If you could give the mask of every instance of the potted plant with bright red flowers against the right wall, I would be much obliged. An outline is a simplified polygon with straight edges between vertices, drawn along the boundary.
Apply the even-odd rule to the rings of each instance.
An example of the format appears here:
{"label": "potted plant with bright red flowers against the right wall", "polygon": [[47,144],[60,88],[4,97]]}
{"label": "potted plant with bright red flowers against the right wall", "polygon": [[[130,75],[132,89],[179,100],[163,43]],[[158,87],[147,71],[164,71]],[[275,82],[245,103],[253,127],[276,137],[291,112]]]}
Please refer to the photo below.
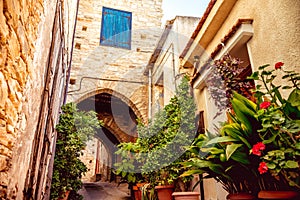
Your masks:
{"label": "potted plant with bright red flowers against the right wall", "polygon": [[[283,65],[278,62],[271,70],[270,65],[261,66],[250,77],[258,82],[255,97],[260,106],[256,118],[262,126],[257,131],[260,141],[251,150],[260,158],[258,171],[264,181],[259,198],[270,195],[266,190],[277,190],[275,193],[281,196],[282,190],[288,190],[288,195],[294,195],[291,198],[300,191],[300,75],[285,71]],[[278,75],[285,84],[275,85]],[[287,99],[281,95],[282,90],[288,90]],[[265,176],[270,175],[276,179],[273,187],[265,185]]]}

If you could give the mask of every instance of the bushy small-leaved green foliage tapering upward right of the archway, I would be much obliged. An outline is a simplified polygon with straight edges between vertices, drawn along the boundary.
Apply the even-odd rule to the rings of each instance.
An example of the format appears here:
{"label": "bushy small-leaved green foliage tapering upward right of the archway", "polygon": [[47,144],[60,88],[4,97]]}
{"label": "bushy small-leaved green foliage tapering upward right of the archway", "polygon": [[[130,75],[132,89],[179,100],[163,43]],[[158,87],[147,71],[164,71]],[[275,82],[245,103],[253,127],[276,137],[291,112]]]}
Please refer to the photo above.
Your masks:
{"label": "bushy small-leaved green foliage tapering upward right of the archway", "polygon": [[186,146],[196,136],[196,106],[189,91],[185,77],[170,103],[148,126],[139,122],[137,141],[119,145],[116,153],[122,159],[116,164],[117,174],[131,182],[147,179],[152,185],[172,184],[179,178],[181,161],[189,157]]}

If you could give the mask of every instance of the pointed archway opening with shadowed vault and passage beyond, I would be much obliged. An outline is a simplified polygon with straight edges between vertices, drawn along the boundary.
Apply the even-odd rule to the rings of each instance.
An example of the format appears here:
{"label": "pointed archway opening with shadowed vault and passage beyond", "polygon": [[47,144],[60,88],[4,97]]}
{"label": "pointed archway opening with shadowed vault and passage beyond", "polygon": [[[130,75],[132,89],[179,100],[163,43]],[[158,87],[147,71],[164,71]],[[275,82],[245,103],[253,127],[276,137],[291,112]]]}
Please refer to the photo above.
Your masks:
{"label": "pointed archway opening with shadowed vault and passage beyond", "polygon": [[97,130],[93,141],[89,141],[82,156],[89,172],[85,181],[117,181],[113,173],[114,163],[118,161],[115,151],[121,142],[134,141],[137,137],[137,115],[127,104],[128,99],[113,92],[102,91],[92,95],[78,105],[82,111],[95,111],[104,126]]}

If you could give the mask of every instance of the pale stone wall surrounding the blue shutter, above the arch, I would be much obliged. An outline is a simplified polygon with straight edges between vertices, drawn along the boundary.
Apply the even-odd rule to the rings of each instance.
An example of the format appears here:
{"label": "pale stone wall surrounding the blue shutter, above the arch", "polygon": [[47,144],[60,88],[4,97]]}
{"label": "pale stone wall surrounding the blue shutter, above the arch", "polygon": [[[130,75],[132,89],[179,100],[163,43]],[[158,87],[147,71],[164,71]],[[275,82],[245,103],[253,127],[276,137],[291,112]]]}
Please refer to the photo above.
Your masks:
{"label": "pale stone wall surrounding the blue shutter, above the arch", "polygon": [[[162,0],[80,1],[71,71],[76,83],[69,87],[68,101],[109,88],[131,100],[147,120],[143,70],[161,33],[161,5]],[[132,12],[131,50],[100,45],[103,6]]]}

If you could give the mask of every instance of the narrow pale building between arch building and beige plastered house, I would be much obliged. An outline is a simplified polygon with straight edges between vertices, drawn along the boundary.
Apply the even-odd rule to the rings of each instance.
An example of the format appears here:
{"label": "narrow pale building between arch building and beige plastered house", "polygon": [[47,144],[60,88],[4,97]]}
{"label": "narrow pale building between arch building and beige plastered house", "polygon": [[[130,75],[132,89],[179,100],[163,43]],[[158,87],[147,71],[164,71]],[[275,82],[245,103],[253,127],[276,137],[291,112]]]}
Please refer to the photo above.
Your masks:
{"label": "narrow pale building between arch building and beige plastered house", "polygon": [[166,22],[165,29],[149,59],[144,74],[150,77],[149,118],[166,106],[175,95],[180,78],[179,55],[187,45],[199,18],[176,16]]}

